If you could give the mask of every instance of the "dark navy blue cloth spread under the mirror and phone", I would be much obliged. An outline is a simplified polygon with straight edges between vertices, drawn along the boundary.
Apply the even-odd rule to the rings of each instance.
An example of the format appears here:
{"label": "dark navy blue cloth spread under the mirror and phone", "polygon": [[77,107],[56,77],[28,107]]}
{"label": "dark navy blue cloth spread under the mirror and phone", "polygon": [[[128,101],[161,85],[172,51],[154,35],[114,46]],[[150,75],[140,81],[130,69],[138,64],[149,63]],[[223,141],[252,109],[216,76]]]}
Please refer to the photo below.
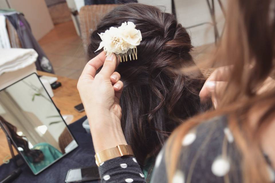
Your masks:
{"label": "dark navy blue cloth spread under the mirror and phone", "polygon": [[[32,171],[26,164],[20,166],[22,173],[20,176],[13,181],[13,183],[62,183],[65,182],[66,175],[71,168],[80,168],[88,166],[96,166],[95,164],[95,151],[93,148],[93,142],[91,134],[87,134],[85,129],[82,127],[82,122],[86,120],[87,117],[83,117],[76,122],[69,125],[76,142],[78,143],[78,148],[55,162],[53,165],[48,167],[46,170],[42,171],[38,175],[32,174]],[[16,166],[13,160],[10,160],[8,164],[3,164],[0,166],[0,180],[9,175]],[[99,182],[99,181],[92,181]]]}

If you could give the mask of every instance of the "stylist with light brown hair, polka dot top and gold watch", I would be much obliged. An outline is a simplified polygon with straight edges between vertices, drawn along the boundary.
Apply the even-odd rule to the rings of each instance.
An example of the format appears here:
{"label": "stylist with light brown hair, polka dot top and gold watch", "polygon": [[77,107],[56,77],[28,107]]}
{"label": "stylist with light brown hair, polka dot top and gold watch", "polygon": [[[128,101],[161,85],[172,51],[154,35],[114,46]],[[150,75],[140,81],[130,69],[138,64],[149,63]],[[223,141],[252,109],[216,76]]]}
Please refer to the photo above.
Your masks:
{"label": "stylist with light brown hair, polka dot top and gold watch", "polygon": [[[275,182],[275,85],[269,82],[274,72],[274,4],[228,1],[225,32],[209,59],[212,67],[224,67],[200,93],[201,100],[212,97],[216,110],[174,130],[156,158],[150,182]],[[121,129],[123,82],[114,73],[116,65],[114,54],[105,59],[100,53],[88,62],[77,87],[101,182],[145,183]]]}

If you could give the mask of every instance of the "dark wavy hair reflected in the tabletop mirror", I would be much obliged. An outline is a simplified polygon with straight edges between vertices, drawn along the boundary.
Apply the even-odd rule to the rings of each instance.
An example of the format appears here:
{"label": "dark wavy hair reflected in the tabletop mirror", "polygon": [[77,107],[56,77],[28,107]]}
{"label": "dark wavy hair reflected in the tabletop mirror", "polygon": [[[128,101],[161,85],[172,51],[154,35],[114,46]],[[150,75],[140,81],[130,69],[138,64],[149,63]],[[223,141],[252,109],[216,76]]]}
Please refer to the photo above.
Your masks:
{"label": "dark wavy hair reflected in the tabletop mirror", "polygon": [[17,134],[17,128],[7,122],[2,116],[0,116],[0,122],[4,126],[7,133],[11,136],[17,147],[23,149],[25,156],[32,158],[33,163],[39,163],[44,160],[44,154],[41,150],[33,149],[30,150],[28,141]]}

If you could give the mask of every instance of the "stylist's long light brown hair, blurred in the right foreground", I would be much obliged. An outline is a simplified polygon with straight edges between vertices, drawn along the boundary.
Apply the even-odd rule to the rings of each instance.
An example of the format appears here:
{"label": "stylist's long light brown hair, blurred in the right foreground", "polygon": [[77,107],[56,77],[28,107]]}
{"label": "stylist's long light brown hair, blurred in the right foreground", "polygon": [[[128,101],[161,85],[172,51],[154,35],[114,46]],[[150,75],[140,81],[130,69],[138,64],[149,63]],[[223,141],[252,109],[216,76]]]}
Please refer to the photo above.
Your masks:
{"label": "stylist's long light brown hair, blurred in the right foreground", "polygon": [[266,129],[274,123],[274,82],[263,90],[264,81],[274,72],[275,10],[272,3],[274,1],[270,0],[228,1],[225,33],[209,64],[230,65],[227,67],[228,83],[214,93],[218,104],[216,111],[190,119],[168,140],[169,182],[177,167],[182,166],[178,165],[179,153],[188,130],[221,115],[227,116],[228,126],[241,152],[242,161],[237,166],[241,167],[242,182],[270,182],[261,140]]}

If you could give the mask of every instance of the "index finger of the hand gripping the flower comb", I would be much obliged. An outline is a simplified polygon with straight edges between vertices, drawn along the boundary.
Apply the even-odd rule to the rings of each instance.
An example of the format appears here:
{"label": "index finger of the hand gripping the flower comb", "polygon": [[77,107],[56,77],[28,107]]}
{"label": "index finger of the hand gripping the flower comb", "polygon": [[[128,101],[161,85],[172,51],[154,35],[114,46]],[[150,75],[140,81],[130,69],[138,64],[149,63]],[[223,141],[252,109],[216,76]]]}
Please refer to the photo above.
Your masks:
{"label": "index finger of the hand gripping the flower comb", "polygon": [[95,74],[99,67],[101,67],[105,61],[106,53],[102,51],[96,57],[91,59],[84,67],[81,76],[90,75],[91,77],[95,77]]}

